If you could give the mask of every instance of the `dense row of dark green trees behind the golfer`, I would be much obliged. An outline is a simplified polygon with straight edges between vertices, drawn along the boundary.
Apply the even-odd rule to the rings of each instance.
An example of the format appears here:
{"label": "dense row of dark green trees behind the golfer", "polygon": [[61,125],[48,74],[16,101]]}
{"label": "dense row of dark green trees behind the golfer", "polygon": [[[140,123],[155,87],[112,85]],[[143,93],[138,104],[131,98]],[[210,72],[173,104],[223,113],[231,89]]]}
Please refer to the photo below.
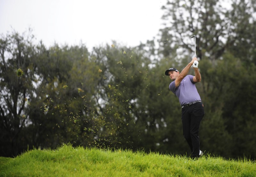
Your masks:
{"label": "dense row of dark green trees behind the golfer", "polygon": [[189,154],[164,71],[191,60],[196,34],[201,149],[255,158],[255,4],[230,4],[168,1],[159,38],[130,48],[115,41],[92,51],[82,43],[46,48],[31,31],[2,34],[0,155],[63,143]]}

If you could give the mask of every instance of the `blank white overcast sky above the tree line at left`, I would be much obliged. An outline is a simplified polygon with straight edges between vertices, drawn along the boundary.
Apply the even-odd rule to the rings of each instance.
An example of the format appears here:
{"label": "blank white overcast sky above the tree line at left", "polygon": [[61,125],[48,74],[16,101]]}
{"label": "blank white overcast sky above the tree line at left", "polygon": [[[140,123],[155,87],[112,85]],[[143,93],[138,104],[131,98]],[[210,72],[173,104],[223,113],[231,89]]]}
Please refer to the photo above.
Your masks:
{"label": "blank white overcast sky above the tree line at left", "polygon": [[0,0],[0,34],[32,28],[49,47],[80,44],[127,47],[156,37],[166,0]]}

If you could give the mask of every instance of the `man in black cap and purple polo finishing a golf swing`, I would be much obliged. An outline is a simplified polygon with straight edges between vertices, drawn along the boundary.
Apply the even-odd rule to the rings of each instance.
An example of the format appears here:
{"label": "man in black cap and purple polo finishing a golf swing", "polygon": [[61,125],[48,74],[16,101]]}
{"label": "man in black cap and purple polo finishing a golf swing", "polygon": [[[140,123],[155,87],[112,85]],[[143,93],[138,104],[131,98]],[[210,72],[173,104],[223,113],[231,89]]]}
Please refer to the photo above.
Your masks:
{"label": "man in black cap and purple polo finishing a golf swing", "polygon": [[[195,70],[195,76],[187,75],[192,65]],[[200,122],[204,116],[204,105],[195,86],[197,82],[201,81],[197,58],[194,57],[181,72],[175,68],[170,68],[165,71],[165,75],[173,80],[169,85],[169,89],[180,101],[183,136],[192,151],[192,158],[200,157],[203,152],[199,149],[198,132]]]}

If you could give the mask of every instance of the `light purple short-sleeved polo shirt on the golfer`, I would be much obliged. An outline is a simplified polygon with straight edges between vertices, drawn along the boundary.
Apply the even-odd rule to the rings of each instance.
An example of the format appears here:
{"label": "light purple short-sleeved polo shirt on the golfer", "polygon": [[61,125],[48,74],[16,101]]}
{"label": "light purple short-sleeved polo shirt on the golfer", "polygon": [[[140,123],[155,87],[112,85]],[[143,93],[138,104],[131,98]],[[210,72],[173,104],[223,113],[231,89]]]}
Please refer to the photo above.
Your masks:
{"label": "light purple short-sleeved polo shirt on the golfer", "polygon": [[201,100],[197,90],[196,85],[193,81],[192,75],[187,75],[182,79],[180,85],[175,88],[175,82],[172,81],[169,85],[169,89],[179,98],[180,105],[185,103],[190,103],[196,100]]}

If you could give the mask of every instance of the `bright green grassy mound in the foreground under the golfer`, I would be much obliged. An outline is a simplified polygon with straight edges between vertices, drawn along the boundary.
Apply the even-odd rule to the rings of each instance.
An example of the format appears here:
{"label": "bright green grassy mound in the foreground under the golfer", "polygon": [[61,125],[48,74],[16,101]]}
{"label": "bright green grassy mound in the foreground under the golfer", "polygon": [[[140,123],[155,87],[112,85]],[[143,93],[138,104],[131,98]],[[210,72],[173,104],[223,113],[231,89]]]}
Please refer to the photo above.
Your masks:
{"label": "bright green grassy mound in the foreground under the golfer", "polygon": [[200,159],[129,150],[99,150],[63,145],[0,157],[0,176],[256,176],[250,160]]}

